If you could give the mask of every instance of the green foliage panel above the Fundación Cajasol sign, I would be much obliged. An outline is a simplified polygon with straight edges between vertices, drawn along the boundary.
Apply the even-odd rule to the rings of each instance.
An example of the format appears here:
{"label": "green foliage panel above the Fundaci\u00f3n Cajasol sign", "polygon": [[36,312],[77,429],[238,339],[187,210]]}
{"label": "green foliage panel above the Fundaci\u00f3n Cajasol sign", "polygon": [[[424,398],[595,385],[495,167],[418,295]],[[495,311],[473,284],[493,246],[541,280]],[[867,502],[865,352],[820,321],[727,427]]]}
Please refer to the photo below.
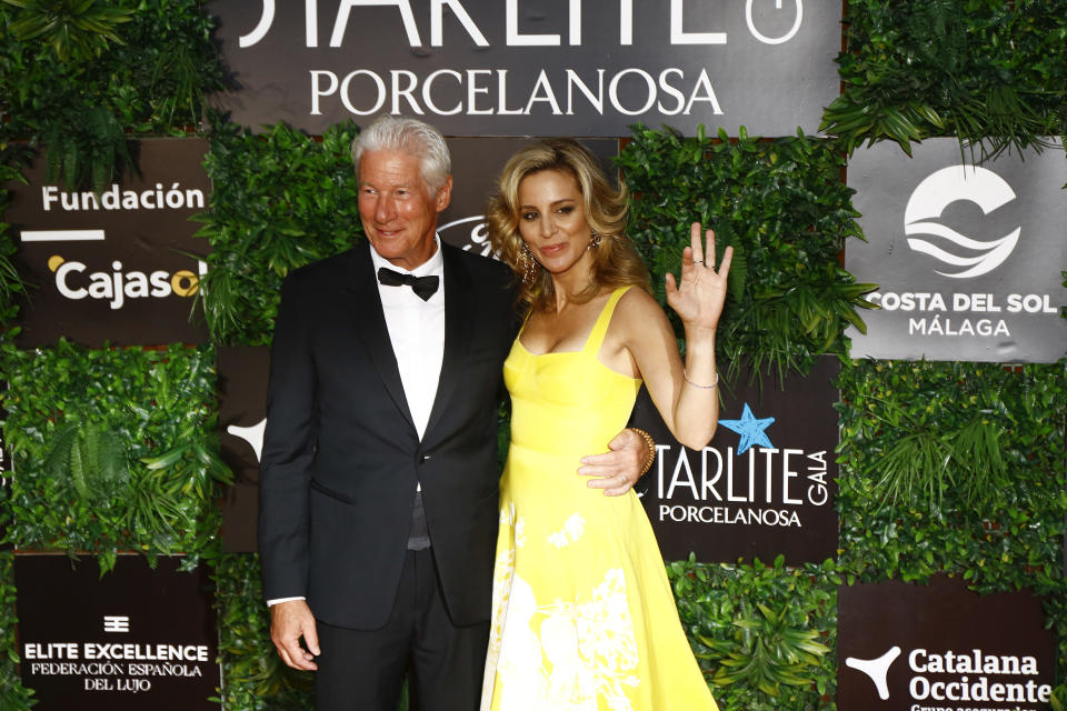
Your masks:
{"label": "green foliage panel above the Fundaci\u00f3n Cajasol sign", "polygon": [[195,0],[0,3],[0,144],[29,140],[68,186],[107,186],[130,137],[199,126],[222,78],[211,28]]}

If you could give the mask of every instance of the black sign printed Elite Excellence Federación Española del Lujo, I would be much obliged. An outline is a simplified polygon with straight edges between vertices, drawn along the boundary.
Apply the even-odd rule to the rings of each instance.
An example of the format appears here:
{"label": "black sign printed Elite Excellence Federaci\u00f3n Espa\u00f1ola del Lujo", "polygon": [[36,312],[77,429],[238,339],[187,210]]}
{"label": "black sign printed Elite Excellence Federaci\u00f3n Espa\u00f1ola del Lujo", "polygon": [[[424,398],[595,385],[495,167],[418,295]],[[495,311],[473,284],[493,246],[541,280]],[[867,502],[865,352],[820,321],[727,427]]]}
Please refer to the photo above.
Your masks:
{"label": "black sign printed Elite Excellence Federaci\u00f3n Espa\u00f1ola del Lujo", "polygon": [[218,631],[206,567],[154,570],[120,555],[96,563],[66,555],[17,555],[22,683],[38,711],[217,709]]}

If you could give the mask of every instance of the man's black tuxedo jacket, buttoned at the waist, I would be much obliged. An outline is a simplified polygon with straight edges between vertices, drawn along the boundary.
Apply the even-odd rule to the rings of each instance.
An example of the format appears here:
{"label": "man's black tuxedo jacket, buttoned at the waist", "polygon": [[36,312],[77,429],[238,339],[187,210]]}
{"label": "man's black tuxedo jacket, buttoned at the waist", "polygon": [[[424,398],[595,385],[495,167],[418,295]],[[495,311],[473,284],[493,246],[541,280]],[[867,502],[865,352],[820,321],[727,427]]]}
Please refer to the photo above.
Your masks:
{"label": "man's black tuxedo jacket, buttoned at the waist", "polygon": [[417,482],[453,623],[489,618],[497,404],[515,293],[502,264],[441,249],[445,353],[421,442],[369,244],[299,269],[282,287],[260,471],[263,594],[303,595],[329,624],[385,624]]}

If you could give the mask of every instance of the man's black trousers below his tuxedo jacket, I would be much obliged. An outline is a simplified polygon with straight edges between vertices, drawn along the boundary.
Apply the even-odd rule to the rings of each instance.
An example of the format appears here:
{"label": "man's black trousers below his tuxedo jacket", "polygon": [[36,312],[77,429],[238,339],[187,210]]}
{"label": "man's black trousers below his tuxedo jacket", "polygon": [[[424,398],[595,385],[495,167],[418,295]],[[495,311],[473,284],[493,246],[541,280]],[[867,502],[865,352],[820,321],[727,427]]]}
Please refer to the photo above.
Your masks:
{"label": "man's black trousers below his tuxedo jacket", "polygon": [[385,627],[350,630],[319,622],[318,633],[316,711],[397,711],[409,669],[412,711],[478,709],[489,622],[452,624],[432,549],[408,551]]}

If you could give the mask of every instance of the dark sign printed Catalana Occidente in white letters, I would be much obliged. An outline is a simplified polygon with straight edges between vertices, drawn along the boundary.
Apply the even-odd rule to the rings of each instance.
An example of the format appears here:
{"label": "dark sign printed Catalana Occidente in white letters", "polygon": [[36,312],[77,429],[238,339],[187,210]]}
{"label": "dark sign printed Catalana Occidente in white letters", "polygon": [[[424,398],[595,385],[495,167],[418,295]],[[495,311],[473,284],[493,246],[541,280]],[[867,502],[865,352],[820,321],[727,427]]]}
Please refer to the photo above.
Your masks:
{"label": "dark sign printed Catalana Occidente in white letters", "polygon": [[938,575],[842,585],[837,600],[838,708],[1050,708],[1055,639],[1031,592],[979,597]]}

